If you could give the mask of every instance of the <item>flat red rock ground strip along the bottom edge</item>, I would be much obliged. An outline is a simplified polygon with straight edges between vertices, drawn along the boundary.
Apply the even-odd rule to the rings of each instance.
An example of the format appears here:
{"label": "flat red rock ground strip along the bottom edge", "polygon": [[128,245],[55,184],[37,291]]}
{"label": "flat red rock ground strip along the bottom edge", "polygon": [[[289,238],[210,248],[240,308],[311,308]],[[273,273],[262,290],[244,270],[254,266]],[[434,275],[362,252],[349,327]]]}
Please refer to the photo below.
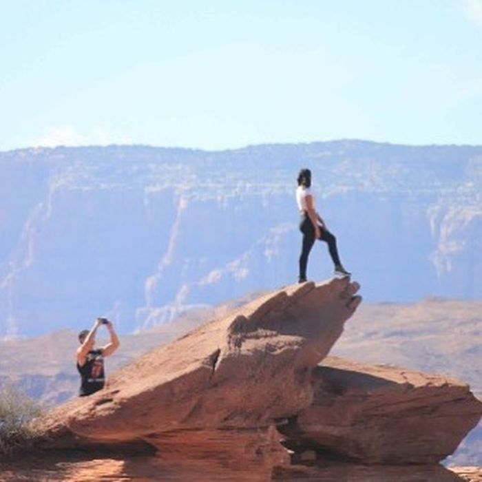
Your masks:
{"label": "flat red rock ground strip along the bottom edge", "polygon": [[[460,470],[460,473],[457,473]],[[479,477],[479,478],[477,478]],[[167,461],[159,457],[55,454],[0,466],[2,482],[480,482],[480,468],[441,465],[256,465],[232,468],[205,459]]]}

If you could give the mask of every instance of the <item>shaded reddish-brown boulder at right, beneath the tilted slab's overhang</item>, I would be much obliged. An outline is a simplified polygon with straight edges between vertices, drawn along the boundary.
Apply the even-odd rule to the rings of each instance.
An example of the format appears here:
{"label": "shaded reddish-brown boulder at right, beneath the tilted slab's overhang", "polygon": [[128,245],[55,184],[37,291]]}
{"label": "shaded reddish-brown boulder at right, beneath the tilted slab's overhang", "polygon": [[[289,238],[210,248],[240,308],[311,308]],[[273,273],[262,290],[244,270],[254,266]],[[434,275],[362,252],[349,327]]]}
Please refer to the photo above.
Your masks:
{"label": "shaded reddish-brown boulder at right, beneath the tilted slab's overhang", "polygon": [[280,427],[291,441],[365,463],[437,463],[482,415],[468,385],[441,375],[328,357],[313,370],[315,397]]}

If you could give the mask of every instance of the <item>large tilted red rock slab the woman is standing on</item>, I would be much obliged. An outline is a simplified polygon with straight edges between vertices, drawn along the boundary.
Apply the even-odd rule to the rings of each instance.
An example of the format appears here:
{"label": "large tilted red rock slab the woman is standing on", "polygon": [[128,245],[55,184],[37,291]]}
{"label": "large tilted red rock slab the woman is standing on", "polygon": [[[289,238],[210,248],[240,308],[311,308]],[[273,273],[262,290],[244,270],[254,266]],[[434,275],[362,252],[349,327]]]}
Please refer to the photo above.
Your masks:
{"label": "large tilted red rock slab the woman is standing on", "polygon": [[[348,278],[287,286],[160,346],[107,388],[66,404],[43,432],[68,441],[146,439],[176,430],[260,428],[311,404],[311,368],[361,301]],[[122,349],[122,348],[121,348]]]}

